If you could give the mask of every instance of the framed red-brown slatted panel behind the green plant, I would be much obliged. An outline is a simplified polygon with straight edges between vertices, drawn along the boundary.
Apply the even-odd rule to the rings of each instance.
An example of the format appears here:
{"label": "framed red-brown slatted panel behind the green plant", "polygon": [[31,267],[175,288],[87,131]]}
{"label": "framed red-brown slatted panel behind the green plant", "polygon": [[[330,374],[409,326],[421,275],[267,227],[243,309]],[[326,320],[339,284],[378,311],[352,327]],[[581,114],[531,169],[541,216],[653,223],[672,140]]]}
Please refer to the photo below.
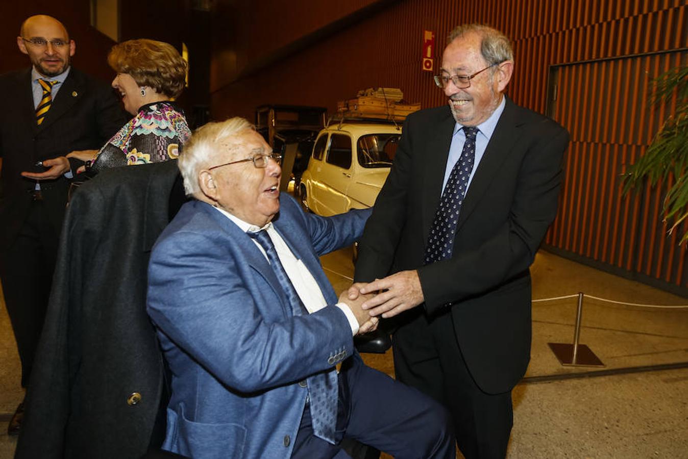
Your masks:
{"label": "framed red-brown slatted panel behind the green plant", "polygon": [[[688,287],[685,247],[667,234],[662,197],[673,183],[623,196],[621,175],[647,149],[676,97],[652,104],[651,80],[688,63],[688,52],[561,66],[552,116],[572,134],[561,208],[546,244]],[[678,228],[682,234],[684,225]]]}

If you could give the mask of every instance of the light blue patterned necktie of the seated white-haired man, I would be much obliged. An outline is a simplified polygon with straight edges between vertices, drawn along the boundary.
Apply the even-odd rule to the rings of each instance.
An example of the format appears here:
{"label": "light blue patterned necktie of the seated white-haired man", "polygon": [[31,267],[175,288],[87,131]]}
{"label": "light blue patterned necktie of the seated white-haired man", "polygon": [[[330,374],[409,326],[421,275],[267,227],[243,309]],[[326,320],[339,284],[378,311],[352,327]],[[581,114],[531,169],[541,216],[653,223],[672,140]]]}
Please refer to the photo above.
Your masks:
{"label": "light blue patterned necktie of the seated white-haired man", "polygon": [[[272,271],[275,271],[275,276],[277,276],[280,286],[284,293],[286,293],[287,298],[289,298],[294,315],[308,314],[301,302],[301,298],[299,298],[299,294],[294,289],[289,276],[287,276],[287,271],[284,270],[282,263],[279,261],[277,250],[275,250],[275,245],[272,244],[272,239],[270,239],[268,232],[265,229],[261,229],[259,232],[248,233],[248,236],[254,238],[265,250]],[[306,378],[306,383],[308,384],[308,396],[310,398],[310,417],[313,425],[313,434],[334,445],[336,443],[334,430],[336,429],[339,395],[337,372],[332,369],[327,372],[313,374]]]}

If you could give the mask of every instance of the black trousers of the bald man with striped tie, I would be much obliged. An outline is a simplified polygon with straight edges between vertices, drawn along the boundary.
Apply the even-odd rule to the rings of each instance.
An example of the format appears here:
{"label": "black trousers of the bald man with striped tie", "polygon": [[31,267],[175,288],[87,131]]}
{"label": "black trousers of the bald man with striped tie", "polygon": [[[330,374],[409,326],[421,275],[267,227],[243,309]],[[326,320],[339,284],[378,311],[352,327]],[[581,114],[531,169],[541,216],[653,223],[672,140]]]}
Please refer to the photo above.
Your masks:
{"label": "black trousers of the bald man with striped tie", "polygon": [[32,201],[17,238],[1,247],[0,280],[21,359],[21,385],[31,376],[50,296],[60,228],[51,223],[45,203]]}

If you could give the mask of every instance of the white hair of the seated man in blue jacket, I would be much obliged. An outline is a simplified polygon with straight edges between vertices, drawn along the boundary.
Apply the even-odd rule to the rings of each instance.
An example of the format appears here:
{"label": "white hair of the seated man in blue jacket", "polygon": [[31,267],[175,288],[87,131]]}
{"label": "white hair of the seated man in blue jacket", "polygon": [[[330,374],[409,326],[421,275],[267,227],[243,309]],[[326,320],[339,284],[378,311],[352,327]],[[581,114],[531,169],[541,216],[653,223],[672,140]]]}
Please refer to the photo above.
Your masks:
{"label": "white hair of the seated man in blue jacket", "polygon": [[211,167],[211,160],[217,153],[217,146],[232,143],[233,137],[237,137],[247,129],[255,129],[255,127],[246,118],[237,116],[226,121],[210,122],[193,132],[191,138],[184,144],[184,150],[178,159],[187,196],[195,196],[201,192],[198,185],[198,173],[204,168]]}

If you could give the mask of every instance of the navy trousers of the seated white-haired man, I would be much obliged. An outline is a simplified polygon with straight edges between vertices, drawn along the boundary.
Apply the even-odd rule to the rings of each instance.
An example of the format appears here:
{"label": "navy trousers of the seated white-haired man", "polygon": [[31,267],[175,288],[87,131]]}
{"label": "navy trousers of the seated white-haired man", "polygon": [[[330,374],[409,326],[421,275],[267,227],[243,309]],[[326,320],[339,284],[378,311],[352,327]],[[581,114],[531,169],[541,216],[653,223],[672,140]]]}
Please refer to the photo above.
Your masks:
{"label": "navy trousers of the seated white-haired man", "polygon": [[[343,363],[338,430],[396,459],[455,457],[449,412],[431,397],[387,374],[365,366],[358,357]],[[342,385],[342,384],[341,384]],[[292,458],[347,458],[340,445],[313,435],[306,405],[294,442]]]}

